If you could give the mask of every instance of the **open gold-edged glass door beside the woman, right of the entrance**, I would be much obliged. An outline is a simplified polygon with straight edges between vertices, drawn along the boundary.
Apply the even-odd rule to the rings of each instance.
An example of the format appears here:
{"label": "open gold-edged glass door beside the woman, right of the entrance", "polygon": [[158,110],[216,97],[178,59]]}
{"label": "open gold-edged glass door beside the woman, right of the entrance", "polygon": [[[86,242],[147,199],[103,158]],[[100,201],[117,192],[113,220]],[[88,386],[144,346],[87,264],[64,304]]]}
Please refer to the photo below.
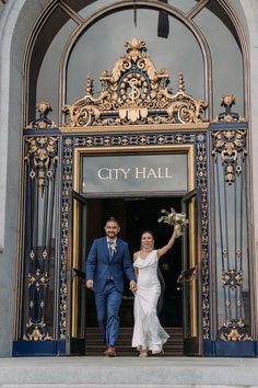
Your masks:
{"label": "open gold-edged glass door beside the woman, right of the entrance", "polygon": [[201,187],[183,197],[183,212],[189,219],[183,242],[183,324],[185,355],[202,355],[202,243]]}

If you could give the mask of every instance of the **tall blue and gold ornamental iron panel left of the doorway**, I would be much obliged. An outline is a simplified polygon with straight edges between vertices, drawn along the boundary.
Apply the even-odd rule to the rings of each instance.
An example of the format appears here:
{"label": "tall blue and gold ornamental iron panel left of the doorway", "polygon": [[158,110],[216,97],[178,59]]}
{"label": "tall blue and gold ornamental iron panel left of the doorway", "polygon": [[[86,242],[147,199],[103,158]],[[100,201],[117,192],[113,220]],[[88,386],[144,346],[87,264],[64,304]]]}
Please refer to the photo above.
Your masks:
{"label": "tall blue and gold ornamental iron panel left of the doorway", "polygon": [[51,340],[46,322],[46,309],[52,255],[57,152],[57,137],[25,138],[27,174],[25,255],[28,313],[23,339],[28,341]]}

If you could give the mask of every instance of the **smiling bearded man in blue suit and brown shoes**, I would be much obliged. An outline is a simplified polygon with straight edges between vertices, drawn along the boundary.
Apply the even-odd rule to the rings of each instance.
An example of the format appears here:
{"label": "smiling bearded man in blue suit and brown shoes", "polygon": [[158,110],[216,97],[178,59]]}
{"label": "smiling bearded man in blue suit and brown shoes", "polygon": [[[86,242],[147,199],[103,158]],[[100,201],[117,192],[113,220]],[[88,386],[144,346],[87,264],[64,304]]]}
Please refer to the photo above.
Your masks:
{"label": "smiling bearded man in blue suit and brown shoes", "polygon": [[137,287],[128,244],[117,237],[119,231],[118,221],[109,218],[105,225],[106,236],[94,240],[86,261],[86,286],[95,293],[97,321],[108,357],[116,356],[124,272],[130,281],[130,289]]}

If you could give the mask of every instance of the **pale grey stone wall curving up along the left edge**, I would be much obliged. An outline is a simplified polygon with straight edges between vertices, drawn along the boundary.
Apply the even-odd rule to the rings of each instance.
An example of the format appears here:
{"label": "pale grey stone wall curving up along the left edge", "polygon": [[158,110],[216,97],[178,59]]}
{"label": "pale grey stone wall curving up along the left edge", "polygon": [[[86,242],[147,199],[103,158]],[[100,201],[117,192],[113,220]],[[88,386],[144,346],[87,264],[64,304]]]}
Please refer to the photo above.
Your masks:
{"label": "pale grey stone wall curving up along the left edge", "polygon": [[47,1],[9,0],[0,19],[0,355],[11,355],[17,262],[22,61]]}

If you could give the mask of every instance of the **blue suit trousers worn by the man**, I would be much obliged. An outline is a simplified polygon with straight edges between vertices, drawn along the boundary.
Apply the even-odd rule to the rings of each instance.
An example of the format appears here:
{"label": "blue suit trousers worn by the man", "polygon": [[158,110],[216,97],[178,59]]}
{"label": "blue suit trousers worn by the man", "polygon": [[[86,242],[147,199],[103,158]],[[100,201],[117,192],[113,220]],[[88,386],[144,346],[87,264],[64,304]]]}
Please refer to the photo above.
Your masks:
{"label": "blue suit trousers worn by the man", "polygon": [[106,283],[103,292],[95,293],[97,321],[107,346],[115,346],[118,336],[121,297],[113,281]]}

